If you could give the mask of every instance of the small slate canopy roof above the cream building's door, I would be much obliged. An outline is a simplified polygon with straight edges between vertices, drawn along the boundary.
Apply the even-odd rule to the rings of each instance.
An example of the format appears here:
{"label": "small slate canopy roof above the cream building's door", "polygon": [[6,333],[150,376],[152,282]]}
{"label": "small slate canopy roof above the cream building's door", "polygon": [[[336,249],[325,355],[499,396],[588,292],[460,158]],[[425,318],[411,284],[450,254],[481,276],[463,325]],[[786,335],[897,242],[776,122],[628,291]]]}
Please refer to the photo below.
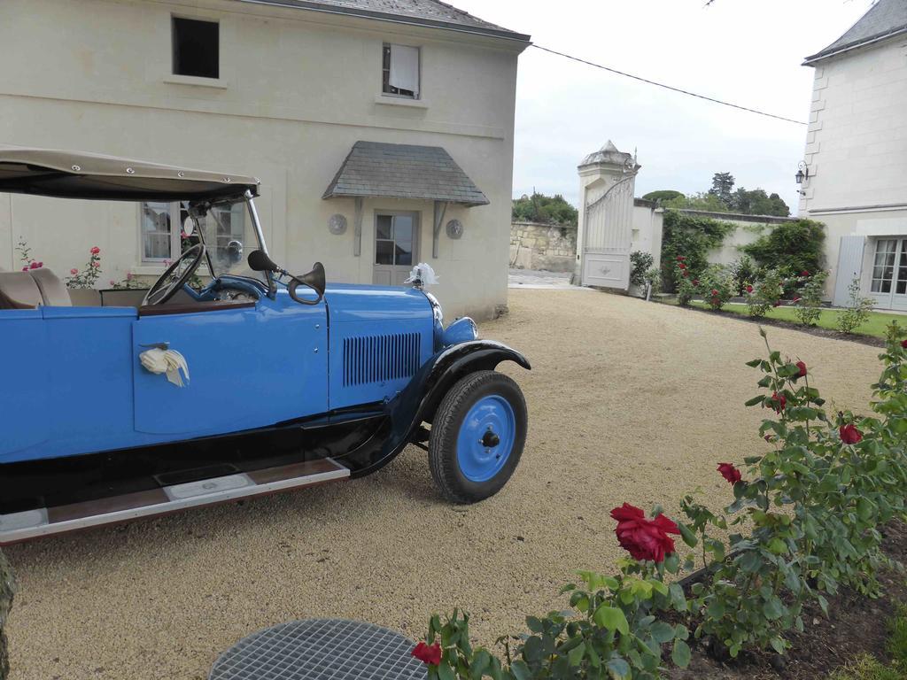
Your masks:
{"label": "small slate canopy roof above the cream building's door", "polygon": [[343,197],[444,200],[487,205],[447,151],[439,146],[357,141],[323,199]]}

